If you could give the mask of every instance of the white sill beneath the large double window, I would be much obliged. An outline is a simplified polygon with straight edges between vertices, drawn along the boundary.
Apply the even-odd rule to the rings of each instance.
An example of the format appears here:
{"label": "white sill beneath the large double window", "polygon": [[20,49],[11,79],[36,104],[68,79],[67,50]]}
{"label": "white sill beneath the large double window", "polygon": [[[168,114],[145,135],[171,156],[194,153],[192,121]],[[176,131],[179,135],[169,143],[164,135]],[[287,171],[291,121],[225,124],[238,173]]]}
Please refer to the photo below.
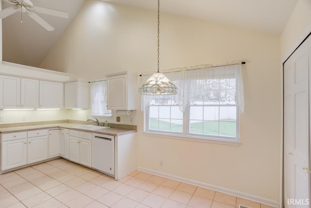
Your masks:
{"label": "white sill beneath the large double window", "polygon": [[179,135],[172,133],[159,133],[159,132],[143,132],[146,136],[155,136],[161,138],[169,138],[169,139],[179,139],[186,141],[194,141],[194,142],[204,142],[204,143],[212,143],[212,144],[222,144],[222,145],[231,145],[231,146],[240,146],[241,142],[236,140],[229,139],[214,139],[214,138],[206,138],[199,136],[189,136],[189,135]]}

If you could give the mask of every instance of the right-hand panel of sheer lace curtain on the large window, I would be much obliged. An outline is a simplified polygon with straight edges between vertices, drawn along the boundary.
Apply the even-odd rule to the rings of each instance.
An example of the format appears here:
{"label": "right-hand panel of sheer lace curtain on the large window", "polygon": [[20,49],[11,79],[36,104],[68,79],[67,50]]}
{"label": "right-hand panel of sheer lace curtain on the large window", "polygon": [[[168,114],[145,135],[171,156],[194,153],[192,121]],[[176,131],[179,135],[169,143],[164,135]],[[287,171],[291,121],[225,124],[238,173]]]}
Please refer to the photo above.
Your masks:
{"label": "right-hand panel of sheer lace curtain on the large window", "polygon": [[241,64],[185,71],[184,106],[191,104],[238,105],[244,112]]}

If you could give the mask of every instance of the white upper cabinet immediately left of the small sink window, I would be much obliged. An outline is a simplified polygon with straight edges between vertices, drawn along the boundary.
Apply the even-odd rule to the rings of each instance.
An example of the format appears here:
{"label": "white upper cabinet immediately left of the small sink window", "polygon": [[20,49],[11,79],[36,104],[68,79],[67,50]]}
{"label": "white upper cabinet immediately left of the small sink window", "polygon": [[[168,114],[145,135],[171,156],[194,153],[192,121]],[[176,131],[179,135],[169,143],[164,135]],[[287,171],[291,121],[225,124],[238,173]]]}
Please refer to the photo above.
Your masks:
{"label": "white upper cabinet immediately left of the small sink window", "polygon": [[65,83],[65,108],[88,109],[88,82],[78,80]]}

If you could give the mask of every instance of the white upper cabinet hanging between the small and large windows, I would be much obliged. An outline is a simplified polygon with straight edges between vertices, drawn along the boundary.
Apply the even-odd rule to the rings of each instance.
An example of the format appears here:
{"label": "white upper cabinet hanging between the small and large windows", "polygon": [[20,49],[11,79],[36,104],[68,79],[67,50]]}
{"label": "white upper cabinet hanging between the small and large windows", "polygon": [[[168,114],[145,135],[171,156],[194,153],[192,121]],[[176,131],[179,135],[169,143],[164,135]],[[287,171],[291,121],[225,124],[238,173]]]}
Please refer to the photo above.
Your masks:
{"label": "white upper cabinet hanging between the small and large windows", "polygon": [[129,72],[110,74],[107,76],[107,109],[136,109],[136,76]]}

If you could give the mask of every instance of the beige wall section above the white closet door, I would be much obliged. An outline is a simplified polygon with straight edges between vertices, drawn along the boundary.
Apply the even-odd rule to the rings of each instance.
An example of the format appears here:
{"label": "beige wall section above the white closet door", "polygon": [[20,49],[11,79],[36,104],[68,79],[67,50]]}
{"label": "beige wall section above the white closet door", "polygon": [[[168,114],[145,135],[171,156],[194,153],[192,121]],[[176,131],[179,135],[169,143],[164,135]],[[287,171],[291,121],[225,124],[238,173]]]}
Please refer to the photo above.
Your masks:
{"label": "beige wall section above the white closet door", "polygon": [[281,35],[281,60],[284,62],[311,32],[311,1],[298,0]]}

